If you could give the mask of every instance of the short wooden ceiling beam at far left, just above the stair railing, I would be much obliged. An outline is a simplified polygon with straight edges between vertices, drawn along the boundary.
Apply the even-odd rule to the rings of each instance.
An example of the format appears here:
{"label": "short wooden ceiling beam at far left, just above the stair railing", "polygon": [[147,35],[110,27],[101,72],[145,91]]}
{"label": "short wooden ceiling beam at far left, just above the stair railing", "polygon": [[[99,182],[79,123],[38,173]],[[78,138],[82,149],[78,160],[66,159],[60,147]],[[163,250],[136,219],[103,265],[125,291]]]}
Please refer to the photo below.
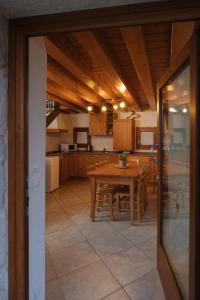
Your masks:
{"label": "short wooden ceiling beam at far left, just above the stair railing", "polygon": [[58,97],[66,99],[68,102],[78,105],[84,109],[86,109],[89,104],[87,101],[79,97],[76,93],[65,89],[64,87],[50,79],[47,80],[47,91],[48,93],[57,95]]}

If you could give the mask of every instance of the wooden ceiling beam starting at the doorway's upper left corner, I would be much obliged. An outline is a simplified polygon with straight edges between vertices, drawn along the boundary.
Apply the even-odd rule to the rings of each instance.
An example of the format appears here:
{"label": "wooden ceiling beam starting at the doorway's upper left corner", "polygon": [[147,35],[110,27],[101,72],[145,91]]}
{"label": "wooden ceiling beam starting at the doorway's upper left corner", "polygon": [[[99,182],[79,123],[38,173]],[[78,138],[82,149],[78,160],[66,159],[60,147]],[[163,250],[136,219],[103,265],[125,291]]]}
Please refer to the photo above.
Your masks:
{"label": "wooden ceiling beam starting at the doorway's upper left corner", "polygon": [[61,42],[63,39],[64,37],[61,34],[44,37],[48,55],[69,70],[74,76],[79,78],[85,85],[93,89],[94,92],[102,98],[114,98],[115,94],[106,82],[103,82],[101,78],[93,74],[81,61],[81,58],[74,55],[66,44],[63,46]]}

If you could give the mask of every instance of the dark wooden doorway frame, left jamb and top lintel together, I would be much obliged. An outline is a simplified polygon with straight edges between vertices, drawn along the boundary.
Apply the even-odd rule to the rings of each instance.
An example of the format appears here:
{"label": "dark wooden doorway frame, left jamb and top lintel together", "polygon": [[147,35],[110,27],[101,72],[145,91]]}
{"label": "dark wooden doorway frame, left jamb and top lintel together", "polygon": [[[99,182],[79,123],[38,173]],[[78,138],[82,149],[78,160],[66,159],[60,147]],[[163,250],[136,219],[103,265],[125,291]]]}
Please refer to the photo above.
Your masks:
{"label": "dark wooden doorway frame, left jamb and top lintel together", "polygon": [[[10,21],[8,74],[8,276],[10,300],[28,299],[26,198],[28,38],[56,32],[196,19],[200,19],[200,3],[193,0],[181,1],[181,3],[170,0],[26,17]],[[194,285],[194,290],[196,290],[197,285],[195,283]]]}

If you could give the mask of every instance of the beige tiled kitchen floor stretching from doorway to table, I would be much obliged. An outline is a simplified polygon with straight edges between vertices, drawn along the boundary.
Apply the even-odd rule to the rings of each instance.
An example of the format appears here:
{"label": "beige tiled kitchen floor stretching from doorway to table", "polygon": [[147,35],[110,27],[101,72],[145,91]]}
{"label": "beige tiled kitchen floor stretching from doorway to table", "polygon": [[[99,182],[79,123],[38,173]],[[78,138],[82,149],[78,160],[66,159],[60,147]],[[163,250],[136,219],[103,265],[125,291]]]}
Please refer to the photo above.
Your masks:
{"label": "beige tiled kitchen floor stretching from doorway to table", "polygon": [[164,300],[156,270],[156,205],[142,224],[89,218],[90,186],[72,179],[46,197],[46,300]]}

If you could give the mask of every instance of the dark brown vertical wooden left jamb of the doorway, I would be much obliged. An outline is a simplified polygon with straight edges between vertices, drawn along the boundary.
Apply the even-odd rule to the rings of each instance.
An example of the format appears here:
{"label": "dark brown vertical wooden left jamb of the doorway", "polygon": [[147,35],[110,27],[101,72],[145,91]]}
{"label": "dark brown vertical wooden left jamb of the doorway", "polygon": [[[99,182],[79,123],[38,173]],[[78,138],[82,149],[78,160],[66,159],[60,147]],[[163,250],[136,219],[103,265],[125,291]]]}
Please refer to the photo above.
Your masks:
{"label": "dark brown vertical wooden left jamb of the doorway", "polygon": [[11,24],[8,100],[9,299],[28,297],[28,221],[26,211],[27,39]]}

